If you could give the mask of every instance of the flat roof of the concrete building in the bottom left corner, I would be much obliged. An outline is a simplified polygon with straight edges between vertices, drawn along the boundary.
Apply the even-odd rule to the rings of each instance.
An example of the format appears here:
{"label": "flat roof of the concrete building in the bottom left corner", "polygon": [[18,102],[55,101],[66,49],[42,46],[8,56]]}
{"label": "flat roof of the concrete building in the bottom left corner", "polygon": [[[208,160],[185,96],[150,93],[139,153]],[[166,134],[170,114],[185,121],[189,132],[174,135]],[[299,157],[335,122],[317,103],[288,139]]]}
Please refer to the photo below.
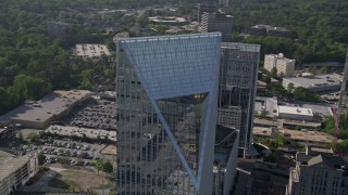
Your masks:
{"label": "flat roof of the concrete building in the bottom left corner", "polygon": [[25,165],[29,157],[14,156],[10,153],[0,151],[0,181],[10,176],[13,171]]}

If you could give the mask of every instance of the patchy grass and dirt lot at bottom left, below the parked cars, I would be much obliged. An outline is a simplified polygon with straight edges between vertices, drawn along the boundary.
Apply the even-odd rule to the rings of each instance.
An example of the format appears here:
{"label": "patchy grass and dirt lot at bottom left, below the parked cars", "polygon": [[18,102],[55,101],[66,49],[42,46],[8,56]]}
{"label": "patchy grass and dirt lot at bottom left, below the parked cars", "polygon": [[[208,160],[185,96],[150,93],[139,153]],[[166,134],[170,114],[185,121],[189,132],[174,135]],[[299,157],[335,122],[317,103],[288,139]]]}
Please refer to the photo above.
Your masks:
{"label": "patchy grass and dirt lot at bottom left, below the parked cars", "polygon": [[86,192],[91,188],[108,188],[112,182],[103,179],[102,184],[101,173],[87,172],[83,170],[64,170],[58,173],[48,185],[51,187],[64,188],[71,192]]}

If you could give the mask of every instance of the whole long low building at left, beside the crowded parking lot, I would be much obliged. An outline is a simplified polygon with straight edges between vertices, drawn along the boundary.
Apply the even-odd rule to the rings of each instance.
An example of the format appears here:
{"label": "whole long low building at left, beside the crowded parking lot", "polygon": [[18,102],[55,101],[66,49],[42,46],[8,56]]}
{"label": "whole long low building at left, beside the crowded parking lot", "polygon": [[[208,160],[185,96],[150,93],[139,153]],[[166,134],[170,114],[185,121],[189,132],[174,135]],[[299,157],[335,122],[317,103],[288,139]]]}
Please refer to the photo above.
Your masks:
{"label": "whole long low building at left, beside the crowded parking lot", "polygon": [[20,107],[0,116],[2,123],[20,123],[25,128],[44,129],[66,115],[75,105],[88,99],[90,91],[58,90],[39,101],[27,101]]}

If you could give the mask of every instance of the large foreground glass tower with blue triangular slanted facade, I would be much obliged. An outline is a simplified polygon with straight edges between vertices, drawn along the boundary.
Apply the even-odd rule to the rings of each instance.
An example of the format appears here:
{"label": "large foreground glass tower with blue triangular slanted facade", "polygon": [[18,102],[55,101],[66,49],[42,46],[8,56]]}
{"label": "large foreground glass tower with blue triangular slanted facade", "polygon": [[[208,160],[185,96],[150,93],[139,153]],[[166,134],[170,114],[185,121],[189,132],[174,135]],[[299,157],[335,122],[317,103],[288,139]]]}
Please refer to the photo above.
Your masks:
{"label": "large foreground glass tower with blue triangular slanted facade", "polygon": [[116,40],[120,194],[211,194],[221,34]]}

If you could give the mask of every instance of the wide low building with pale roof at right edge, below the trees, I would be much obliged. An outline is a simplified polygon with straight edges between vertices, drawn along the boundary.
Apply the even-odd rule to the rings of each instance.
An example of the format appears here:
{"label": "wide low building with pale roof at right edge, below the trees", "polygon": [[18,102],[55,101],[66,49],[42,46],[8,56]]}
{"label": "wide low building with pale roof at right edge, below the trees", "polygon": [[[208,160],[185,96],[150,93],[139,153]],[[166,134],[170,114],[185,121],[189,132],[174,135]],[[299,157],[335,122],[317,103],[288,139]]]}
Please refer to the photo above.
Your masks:
{"label": "wide low building with pale roof at right edge, below the trees", "polygon": [[339,91],[341,81],[343,76],[337,74],[288,77],[283,79],[283,87],[287,89],[293,83],[295,88],[302,87],[313,93],[328,93]]}

